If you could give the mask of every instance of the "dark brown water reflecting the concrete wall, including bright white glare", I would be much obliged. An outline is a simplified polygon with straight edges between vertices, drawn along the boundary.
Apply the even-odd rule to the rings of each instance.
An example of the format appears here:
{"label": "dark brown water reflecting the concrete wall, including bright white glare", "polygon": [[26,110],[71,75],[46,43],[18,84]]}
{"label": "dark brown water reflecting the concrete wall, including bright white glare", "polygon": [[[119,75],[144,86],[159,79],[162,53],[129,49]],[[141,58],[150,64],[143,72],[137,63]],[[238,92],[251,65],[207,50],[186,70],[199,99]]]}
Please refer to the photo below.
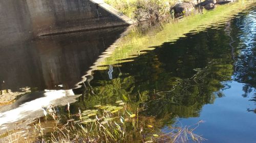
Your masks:
{"label": "dark brown water reflecting the concrete wall, including bright white glare", "polygon": [[[42,106],[75,102],[72,88],[126,27],[20,39],[0,48],[0,133],[43,116]],[[11,38],[6,37],[9,41]],[[46,90],[47,89],[47,90]],[[25,95],[24,95],[25,94]],[[15,115],[15,116],[13,116]],[[28,123],[31,121],[28,121]]]}

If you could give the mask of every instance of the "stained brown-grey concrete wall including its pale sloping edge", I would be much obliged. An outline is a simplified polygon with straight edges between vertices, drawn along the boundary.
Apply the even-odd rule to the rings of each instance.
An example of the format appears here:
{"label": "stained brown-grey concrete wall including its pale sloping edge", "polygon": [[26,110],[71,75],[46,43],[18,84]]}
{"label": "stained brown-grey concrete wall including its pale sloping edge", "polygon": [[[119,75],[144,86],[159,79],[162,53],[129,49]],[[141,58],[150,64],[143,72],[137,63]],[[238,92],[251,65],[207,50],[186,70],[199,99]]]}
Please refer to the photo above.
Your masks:
{"label": "stained brown-grey concrete wall including its pale sloping edge", "polygon": [[96,0],[8,0],[0,2],[0,13],[0,41],[4,37],[17,41],[133,23]]}

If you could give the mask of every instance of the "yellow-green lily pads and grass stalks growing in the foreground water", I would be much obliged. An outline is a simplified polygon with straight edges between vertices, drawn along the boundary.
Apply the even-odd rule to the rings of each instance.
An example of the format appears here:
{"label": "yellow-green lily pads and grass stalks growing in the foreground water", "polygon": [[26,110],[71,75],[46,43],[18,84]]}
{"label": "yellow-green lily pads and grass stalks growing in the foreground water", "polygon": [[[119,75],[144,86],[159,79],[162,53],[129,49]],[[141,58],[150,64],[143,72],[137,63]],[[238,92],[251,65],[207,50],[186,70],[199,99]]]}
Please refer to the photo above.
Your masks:
{"label": "yellow-green lily pads and grass stalks growing in the foreground water", "polygon": [[[57,119],[56,119],[57,121]],[[45,131],[40,120],[34,125],[40,141],[48,142],[186,142],[205,140],[193,131],[198,127],[170,127],[163,133],[148,124],[146,117],[139,116],[139,109],[133,110],[122,100],[113,105],[95,105],[94,108],[70,115],[66,123]]]}

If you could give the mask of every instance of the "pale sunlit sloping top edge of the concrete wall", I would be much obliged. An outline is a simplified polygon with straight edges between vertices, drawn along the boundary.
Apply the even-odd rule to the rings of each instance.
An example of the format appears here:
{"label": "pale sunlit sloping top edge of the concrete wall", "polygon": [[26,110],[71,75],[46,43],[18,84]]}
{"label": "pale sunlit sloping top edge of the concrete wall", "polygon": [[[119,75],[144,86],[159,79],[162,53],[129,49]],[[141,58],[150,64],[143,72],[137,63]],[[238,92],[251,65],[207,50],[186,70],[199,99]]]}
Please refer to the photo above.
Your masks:
{"label": "pale sunlit sloping top edge of the concrete wall", "polygon": [[131,19],[130,17],[124,15],[123,13],[119,12],[118,10],[116,10],[115,8],[113,8],[112,6],[106,4],[105,2],[103,2],[103,0],[89,0],[92,3],[98,5],[99,7],[101,7],[102,9],[112,13],[113,15],[115,15],[116,17],[122,19],[124,22],[126,22],[127,24],[135,24],[136,21]]}

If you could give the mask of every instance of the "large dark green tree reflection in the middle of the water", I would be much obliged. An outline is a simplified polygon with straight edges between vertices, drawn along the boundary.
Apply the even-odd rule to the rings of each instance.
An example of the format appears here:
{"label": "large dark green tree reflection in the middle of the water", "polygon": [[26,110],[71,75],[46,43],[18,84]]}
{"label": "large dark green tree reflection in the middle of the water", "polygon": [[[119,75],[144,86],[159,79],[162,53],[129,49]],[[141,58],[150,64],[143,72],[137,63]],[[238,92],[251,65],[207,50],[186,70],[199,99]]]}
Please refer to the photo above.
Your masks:
{"label": "large dark green tree reflection in the middle of the water", "polygon": [[223,96],[222,81],[231,80],[229,40],[224,31],[209,29],[114,65],[112,80],[109,70],[94,71],[91,85],[96,95],[87,92],[77,106],[126,99],[140,107],[141,115],[166,123],[177,116],[198,117],[203,105]]}

